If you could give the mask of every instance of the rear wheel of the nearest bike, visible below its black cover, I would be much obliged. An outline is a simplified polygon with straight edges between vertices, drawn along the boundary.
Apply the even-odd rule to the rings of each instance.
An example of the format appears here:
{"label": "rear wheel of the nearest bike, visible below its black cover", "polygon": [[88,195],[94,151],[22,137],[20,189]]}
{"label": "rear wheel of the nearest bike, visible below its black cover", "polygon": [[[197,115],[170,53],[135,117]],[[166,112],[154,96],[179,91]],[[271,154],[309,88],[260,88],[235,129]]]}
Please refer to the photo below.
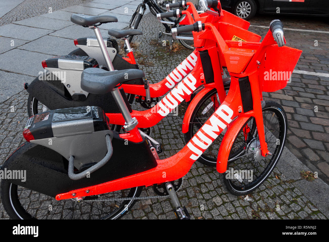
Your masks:
{"label": "rear wheel of the nearest bike, visible below its black cover", "polygon": [[[41,184],[40,184],[41,185]],[[121,192],[125,197],[136,197],[140,196],[142,187],[134,187],[130,189],[126,189],[124,191],[116,191],[114,193],[107,193],[105,195],[100,195],[102,198],[111,198],[117,192]],[[29,189],[18,187],[17,185],[7,181],[1,181],[1,200],[2,204],[8,213],[8,215],[12,219],[119,219],[123,215],[125,215],[135,204],[136,199],[134,200],[124,200],[123,202],[83,202],[81,204],[77,204],[72,200],[62,200],[57,201],[55,198],[49,197],[44,194],[39,194],[37,192],[31,191]],[[29,200],[31,196],[42,196],[42,203],[38,208],[38,211],[35,213],[35,209],[29,211],[28,204],[26,204],[26,200]],[[22,198],[20,198],[22,197]],[[21,199],[21,200],[20,200]],[[87,200],[88,197],[85,198]],[[46,201],[46,202],[45,202]],[[95,204],[96,203],[96,204]],[[111,203],[111,204],[110,204]],[[115,203],[115,204],[114,204]],[[45,205],[44,205],[45,204]],[[68,212],[63,211],[61,214],[56,213],[56,208],[65,206],[65,210],[69,210],[67,208],[72,204],[72,211]],[[49,210],[49,205],[52,205],[52,209]],[[69,206],[69,207],[68,207]],[[90,212],[86,213],[86,208],[88,209],[90,206],[91,212],[98,209],[96,214],[90,214]],[[110,208],[111,207],[111,208]],[[110,209],[110,211],[109,211]],[[112,210],[113,209],[113,210]],[[80,217],[76,217],[80,212]],[[100,212],[104,213],[100,214]],[[84,214],[82,214],[84,213]]]}

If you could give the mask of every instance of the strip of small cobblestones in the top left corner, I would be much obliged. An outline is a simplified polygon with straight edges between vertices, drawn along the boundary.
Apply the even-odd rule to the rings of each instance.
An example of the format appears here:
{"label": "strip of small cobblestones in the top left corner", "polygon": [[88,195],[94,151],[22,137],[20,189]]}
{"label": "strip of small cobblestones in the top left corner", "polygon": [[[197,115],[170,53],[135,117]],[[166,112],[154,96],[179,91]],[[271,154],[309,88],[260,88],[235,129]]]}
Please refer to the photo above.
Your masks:
{"label": "strip of small cobblestones in the top left corner", "polygon": [[16,8],[6,13],[0,18],[0,26],[9,24],[14,21],[22,20],[38,16],[40,14],[48,13],[49,8],[51,11],[56,11],[73,5],[79,5],[80,3],[90,2],[91,0],[25,0],[19,4]]}

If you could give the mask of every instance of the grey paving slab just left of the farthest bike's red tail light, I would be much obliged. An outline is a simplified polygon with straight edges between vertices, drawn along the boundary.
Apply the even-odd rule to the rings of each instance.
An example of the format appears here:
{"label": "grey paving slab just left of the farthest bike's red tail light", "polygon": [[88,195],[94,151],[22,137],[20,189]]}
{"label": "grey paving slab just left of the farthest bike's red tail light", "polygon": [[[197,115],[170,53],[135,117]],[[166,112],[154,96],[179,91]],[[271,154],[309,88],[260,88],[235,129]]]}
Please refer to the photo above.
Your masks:
{"label": "grey paving slab just left of the farthest bike's red tail light", "polygon": [[54,56],[66,55],[76,48],[77,47],[74,45],[74,42],[71,39],[65,39],[49,35],[41,37],[38,40],[33,40],[27,44],[18,47],[18,49],[29,50]]}

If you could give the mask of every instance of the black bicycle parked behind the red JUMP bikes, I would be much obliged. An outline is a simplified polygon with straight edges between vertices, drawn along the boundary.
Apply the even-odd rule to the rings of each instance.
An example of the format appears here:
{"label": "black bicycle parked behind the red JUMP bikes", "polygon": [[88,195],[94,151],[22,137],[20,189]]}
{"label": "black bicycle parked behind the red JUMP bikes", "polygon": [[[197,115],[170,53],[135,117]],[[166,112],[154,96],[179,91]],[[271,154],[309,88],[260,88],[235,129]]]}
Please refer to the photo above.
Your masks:
{"label": "black bicycle parked behind the red JUMP bikes", "polygon": [[[164,13],[164,11],[162,10],[163,8],[160,8],[158,6],[158,4],[155,2],[156,0],[143,0],[141,4],[139,4],[137,6],[137,9],[135,11],[135,13],[133,14],[133,16],[131,17],[130,20],[130,24],[129,24],[129,29],[137,29],[139,22],[141,20],[141,18],[143,17],[145,11],[146,11],[146,4],[148,5],[151,13],[154,16],[159,16],[157,14],[159,13]],[[172,1],[166,1],[166,2],[172,2]],[[178,3],[171,3],[171,4],[166,4],[166,10],[170,11],[170,9],[172,8],[184,8],[184,10],[186,10],[186,2],[185,1],[180,1]],[[158,17],[159,19],[159,17]],[[169,48],[172,48],[172,44],[173,44],[173,38],[171,36],[171,28],[176,28],[176,27],[181,27],[183,25],[179,25],[179,22],[182,20],[182,16],[179,16],[175,19],[172,19],[170,17],[165,17],[166,20],[161,19],[160,17],[160,21],[161,23],[164,25],[165,28],[165,32],[161,31],[159,32],[159,38],[163,35],[166,34],[169,37]],[[178,35],[179,37],[192,37],[192,32],[189,33],[181,33]],[[129,42],[131,42],[131,40],[134,38],[134,36],[130,36],[129,37]],[[177,38],[178,39],[178,38]],[[194,43],[193,40],[179,40],[179,42],[188,49],[193,50],[194,49]]]}

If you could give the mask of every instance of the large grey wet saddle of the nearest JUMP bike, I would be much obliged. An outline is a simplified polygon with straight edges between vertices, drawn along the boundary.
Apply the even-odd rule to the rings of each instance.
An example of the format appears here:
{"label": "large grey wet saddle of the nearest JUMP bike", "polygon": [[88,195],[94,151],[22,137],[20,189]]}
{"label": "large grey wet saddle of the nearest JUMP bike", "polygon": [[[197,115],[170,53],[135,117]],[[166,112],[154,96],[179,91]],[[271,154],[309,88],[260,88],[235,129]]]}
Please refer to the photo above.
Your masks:
{"label": "large grey wet saddle of the nearest JUMP bike", "polygon": [[144,76],[144,72],[139,69],[107,71],[101,68],[87,68],[81,74],[81,88],[88,93],[105,94],[122,82]]}

